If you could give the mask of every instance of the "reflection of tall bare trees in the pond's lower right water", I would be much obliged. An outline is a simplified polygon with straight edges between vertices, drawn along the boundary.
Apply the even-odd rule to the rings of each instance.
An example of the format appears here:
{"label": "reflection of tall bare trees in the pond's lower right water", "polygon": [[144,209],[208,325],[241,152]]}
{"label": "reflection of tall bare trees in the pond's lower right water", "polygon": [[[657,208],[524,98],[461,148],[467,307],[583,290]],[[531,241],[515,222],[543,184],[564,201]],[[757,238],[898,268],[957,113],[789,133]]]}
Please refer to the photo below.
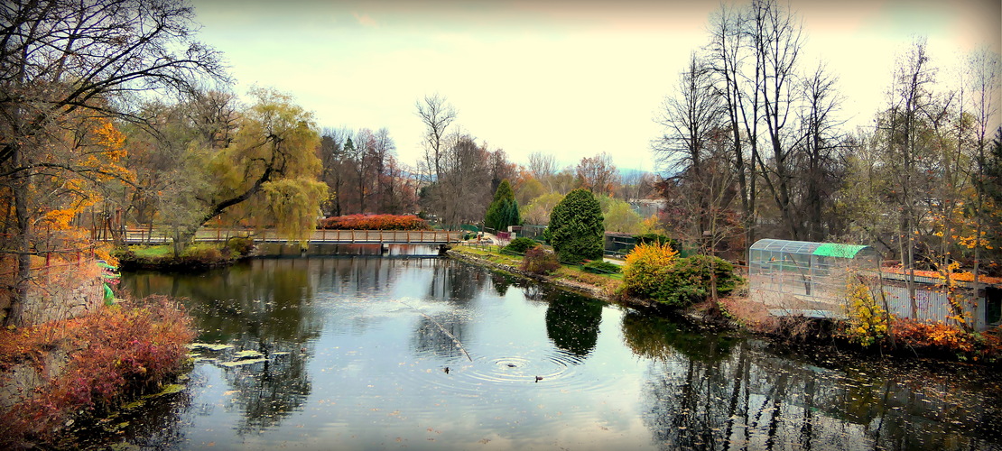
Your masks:
{"label": "reflection of tall bare trees in the pond's lower right water", "polygon": [[661,321],[628,314],[623,333],[636,354],[654,359],[643,421],[665,449],[999,445],[998,397],[983,396],[983,387],[824,369],[778,357],[754,341],[719,346],[706,338],[700,345],[677,331],[666,340],[670,328]]}

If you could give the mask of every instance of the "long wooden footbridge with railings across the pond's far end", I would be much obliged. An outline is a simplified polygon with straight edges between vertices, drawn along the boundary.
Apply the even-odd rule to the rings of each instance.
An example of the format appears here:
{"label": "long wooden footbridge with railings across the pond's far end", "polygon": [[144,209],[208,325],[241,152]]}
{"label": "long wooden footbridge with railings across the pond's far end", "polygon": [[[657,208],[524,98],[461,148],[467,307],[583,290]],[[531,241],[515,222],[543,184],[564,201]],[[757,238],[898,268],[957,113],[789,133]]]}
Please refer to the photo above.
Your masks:
{"label": "long wooden footbridge with railings across the pond's far end", "polygon": [[[235,231],[222,229],[202,229],[195,234],[196,242],[222,242],[230,237],[249,237],[256,243],[288,243],[274,230]],[[331,245],[449,245],[459,243],[463,231],[314,231],[311,244]],[[142,229],[125,231],[125,242],[136,244],[170,243],[171,239],[162,233]]]}

